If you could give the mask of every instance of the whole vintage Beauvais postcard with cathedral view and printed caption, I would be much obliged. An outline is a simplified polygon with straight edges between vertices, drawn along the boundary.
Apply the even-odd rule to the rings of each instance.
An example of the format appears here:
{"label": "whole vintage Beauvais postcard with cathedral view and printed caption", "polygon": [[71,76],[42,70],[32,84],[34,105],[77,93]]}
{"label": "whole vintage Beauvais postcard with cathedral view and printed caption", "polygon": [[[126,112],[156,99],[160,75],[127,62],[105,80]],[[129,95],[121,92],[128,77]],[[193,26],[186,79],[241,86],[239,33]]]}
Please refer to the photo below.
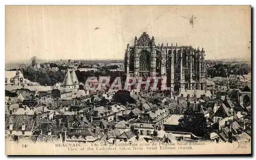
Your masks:
{"label": "whole vintage Beauvais postcard with cathedral view and printed caption", "polygon": [[7,155],[251,154],[251,6],[6,6]]}

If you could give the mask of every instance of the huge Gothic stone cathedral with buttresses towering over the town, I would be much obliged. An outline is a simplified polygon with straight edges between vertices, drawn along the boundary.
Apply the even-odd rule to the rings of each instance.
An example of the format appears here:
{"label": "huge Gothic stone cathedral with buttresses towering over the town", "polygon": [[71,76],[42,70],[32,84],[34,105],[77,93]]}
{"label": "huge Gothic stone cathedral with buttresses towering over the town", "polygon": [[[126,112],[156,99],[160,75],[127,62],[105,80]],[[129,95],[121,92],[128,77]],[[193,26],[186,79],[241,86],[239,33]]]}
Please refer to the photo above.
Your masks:
{"label": "huge Gothic stone cathedral with buttresses towering over the town", "polygon": [[181,89],[204,90],[205,51],[199,47],[155,45],[154,36],[143,32],[127,44],[124,56],[125,73],[135,77],[167,76],[167,86],[173,91]]}

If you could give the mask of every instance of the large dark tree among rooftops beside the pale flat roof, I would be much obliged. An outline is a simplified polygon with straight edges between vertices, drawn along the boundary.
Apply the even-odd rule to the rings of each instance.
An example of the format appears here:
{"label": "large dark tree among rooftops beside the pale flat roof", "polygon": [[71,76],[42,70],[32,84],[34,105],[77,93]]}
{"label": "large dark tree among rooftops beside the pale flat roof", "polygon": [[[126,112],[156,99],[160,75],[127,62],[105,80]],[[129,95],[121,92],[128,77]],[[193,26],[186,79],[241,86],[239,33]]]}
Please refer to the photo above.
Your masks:
{"label": "large dark tree among rooftops beside the pale flat roof", "polygon": [[179,119],[179,126],[196,136],[204,137],[207,133],[207,121],[204,115],[191,110],[187,110],[184,114]]}

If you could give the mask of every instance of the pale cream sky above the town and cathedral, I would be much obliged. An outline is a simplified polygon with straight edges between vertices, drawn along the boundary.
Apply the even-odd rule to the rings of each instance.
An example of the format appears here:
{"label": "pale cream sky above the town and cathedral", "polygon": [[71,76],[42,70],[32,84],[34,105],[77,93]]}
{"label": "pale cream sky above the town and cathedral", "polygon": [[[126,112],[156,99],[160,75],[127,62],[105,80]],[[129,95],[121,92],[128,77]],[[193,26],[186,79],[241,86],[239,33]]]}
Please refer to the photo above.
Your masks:
{"label": "pale cream sky above the town and cathedral", "polygon": [[205,59],[251,55],[250,6],[6,6],[6,62],[123,59],[143,32],[203,47]]}

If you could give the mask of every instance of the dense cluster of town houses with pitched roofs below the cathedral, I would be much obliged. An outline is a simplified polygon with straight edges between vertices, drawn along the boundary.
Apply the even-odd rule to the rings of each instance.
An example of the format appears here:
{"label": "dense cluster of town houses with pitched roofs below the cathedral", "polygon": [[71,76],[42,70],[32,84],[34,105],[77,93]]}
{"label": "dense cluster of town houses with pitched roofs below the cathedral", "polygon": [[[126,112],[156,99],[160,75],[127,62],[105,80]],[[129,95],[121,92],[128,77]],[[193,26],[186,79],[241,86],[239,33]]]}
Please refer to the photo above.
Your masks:
{"label": "dense cluster of town houses with pitched roofs below the cathedral", "polygon": [[[229,89],[211,84],[206,90],[181,90],[179,95],[132,90],[134,101],[125,104],[115,102],[114,95],[87,92],[74,70],[53,87],[6,85],[6,139],[110,144],[251,140],[250,85]],[[187,110],[204,115],[209,130],[205,136],[179,125]]]}

